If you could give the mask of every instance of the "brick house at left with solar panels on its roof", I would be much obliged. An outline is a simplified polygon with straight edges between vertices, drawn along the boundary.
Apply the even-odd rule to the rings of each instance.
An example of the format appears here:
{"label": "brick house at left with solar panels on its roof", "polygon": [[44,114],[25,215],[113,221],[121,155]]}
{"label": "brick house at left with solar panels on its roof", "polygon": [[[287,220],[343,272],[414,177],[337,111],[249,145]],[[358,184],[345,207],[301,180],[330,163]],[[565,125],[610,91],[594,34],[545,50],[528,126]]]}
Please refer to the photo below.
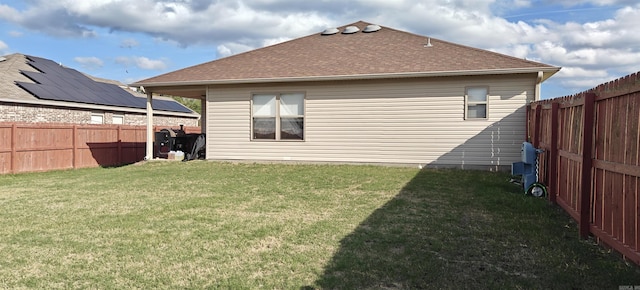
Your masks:
{"label": "brick house at left with solar panels on its roof", "polygon": [[[153,102],[154,125],[198,126],[200,115],[170,98]],[[84,75],[51,60],[0,57],[0,122],[147,123],[146,95]]]}

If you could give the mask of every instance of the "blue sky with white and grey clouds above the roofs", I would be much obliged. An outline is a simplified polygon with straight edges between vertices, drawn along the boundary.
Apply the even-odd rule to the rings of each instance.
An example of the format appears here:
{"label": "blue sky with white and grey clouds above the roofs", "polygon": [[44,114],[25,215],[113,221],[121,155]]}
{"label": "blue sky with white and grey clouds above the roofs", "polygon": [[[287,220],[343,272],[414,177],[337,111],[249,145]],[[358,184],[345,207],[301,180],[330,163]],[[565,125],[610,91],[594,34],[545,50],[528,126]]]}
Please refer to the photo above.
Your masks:
{"label": "blue sky with white and grey clouds above the roofs", "polygon": [[637,0],[0,0],[0,55],[130,84],[360,20],[562,67],[543,99],[640,71]]}

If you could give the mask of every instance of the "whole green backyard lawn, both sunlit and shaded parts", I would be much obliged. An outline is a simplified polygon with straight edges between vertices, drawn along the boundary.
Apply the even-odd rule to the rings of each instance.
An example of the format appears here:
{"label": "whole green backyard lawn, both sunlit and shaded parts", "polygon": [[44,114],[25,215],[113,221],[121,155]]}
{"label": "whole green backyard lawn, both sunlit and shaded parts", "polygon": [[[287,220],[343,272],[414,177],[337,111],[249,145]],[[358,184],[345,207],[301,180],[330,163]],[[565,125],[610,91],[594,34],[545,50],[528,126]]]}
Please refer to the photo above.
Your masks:
{"label": "whole green backyard lawn, both sunlit and shaded parts", "polygon": [[503,173],[152,162],[0,176],[0,288],[617,289]]}

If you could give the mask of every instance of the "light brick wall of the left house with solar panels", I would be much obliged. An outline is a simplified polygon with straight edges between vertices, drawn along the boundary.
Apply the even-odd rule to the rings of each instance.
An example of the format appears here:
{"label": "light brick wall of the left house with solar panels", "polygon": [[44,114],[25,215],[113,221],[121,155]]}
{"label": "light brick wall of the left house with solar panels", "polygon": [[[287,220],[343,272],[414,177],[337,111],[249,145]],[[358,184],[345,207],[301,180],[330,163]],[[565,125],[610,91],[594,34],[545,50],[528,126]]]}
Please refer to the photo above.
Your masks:
{"label": "light brick wall of the left house with solar panels", "polygon": [[[26,122],[26,123],[72,123],[89,124],[91,114],[104,114],[104,123],[112,124],[113,115],[123,115],[125,125],[146,125],[145,114],[123,113],[100,110],[81,110],[51,106],[26,105],[19,103],[0,103],[0,122]],[[196,118],[181,118],[171,116],[154,115],[153,122],[160,126],[198,126]]]}

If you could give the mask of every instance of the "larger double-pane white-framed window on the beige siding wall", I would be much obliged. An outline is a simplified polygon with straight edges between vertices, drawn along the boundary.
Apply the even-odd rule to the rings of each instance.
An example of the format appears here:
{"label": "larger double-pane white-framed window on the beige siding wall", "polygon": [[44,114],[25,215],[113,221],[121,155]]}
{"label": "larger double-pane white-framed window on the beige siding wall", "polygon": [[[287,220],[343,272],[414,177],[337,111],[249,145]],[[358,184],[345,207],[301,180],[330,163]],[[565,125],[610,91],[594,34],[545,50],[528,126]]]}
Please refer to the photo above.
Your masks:
{"label": "larger double-pane white-framed window on the beige siding wall", "polygon": [[259,94],[252,99],[253,140],[304,140],[304,94]]}

